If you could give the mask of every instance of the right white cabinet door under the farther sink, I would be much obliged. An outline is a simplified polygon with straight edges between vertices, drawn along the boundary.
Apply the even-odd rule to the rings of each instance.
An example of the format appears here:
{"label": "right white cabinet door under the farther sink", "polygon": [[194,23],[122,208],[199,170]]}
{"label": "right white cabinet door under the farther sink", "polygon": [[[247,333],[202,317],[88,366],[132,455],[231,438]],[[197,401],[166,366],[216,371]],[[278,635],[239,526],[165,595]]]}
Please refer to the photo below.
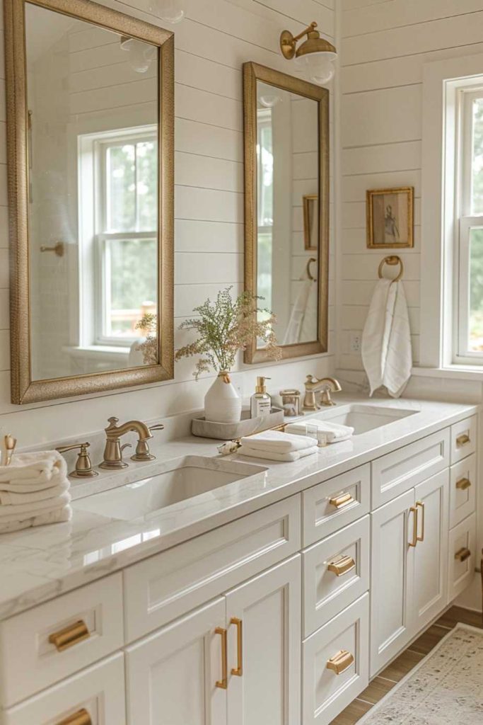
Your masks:
{"label": "right white cabinet door under the farther sink", "polygon": [[448,468],[416,486],[418,543],[414,550],[413,632],[445,608],[448,599]]}

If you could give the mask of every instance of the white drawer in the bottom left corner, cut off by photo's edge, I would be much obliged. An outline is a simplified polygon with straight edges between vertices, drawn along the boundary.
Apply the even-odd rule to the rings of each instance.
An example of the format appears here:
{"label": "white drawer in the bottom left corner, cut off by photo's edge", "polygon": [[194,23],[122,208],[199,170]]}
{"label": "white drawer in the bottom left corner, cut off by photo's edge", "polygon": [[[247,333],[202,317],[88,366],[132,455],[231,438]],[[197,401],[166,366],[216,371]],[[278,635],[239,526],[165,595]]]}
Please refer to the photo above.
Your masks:
{"label": "white drawer in the bottom left corner, cut off by photo's edge", "polygon": [[[98,662],[3,713],[2,725],[125,725],[124,655]],[[81,715],[83,719],[81,719]]]}

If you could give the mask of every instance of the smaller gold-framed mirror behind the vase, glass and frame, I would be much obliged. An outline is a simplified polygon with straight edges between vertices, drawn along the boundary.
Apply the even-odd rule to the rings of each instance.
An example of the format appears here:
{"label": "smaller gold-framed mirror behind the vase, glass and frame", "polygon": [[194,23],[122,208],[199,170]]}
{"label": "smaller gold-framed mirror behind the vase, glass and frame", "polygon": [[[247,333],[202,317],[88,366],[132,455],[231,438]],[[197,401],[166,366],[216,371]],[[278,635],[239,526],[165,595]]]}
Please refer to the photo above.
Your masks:
{"label": "smaller gold-framed mirror behind the vase, glass and frame", "polygon": [[[327,352],[329,91],[245,63],[243,103],[245,289],[277,316],[282,358]],[[263,360],[254,339],[245,363]]]}

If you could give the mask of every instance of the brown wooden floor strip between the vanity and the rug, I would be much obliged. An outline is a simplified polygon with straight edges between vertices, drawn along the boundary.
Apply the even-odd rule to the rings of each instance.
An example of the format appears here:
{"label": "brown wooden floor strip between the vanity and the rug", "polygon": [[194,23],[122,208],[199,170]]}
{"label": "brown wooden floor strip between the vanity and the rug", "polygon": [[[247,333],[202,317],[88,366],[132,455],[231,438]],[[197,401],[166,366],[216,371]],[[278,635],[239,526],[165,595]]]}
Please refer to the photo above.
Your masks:
{"label": "brown wooden floor strip between the vanity and the rug", "polygon": [[477,612],[470,612],[461,607],[452,607],[443,614],[438,621],[421,634],[421,637],[415,640],[402,655],[394,660],[390,666],[386,667],[380,675],[375,677],[369,687],[367,687],[356,700],[345,708],[331,725],[355,725],[363,715],[368,712],[373,705],[390,692],[403,677],[411,672],[412,668],[417,665],[433,647],[440,642],[440,639],[448,634],[458,622],[464,624],[472,624],[473,626],[483,629],[482,615]]}

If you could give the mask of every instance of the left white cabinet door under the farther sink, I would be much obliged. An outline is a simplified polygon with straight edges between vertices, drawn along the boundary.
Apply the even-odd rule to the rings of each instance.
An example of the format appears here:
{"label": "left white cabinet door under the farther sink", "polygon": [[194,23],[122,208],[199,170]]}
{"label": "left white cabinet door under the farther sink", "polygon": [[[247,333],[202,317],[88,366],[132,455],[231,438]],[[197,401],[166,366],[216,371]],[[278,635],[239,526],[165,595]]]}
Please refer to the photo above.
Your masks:
{"label": "left white cabinet door under the farther sink", "polygon": [[371,676],[411,639],[414,489],[371,514]]}

